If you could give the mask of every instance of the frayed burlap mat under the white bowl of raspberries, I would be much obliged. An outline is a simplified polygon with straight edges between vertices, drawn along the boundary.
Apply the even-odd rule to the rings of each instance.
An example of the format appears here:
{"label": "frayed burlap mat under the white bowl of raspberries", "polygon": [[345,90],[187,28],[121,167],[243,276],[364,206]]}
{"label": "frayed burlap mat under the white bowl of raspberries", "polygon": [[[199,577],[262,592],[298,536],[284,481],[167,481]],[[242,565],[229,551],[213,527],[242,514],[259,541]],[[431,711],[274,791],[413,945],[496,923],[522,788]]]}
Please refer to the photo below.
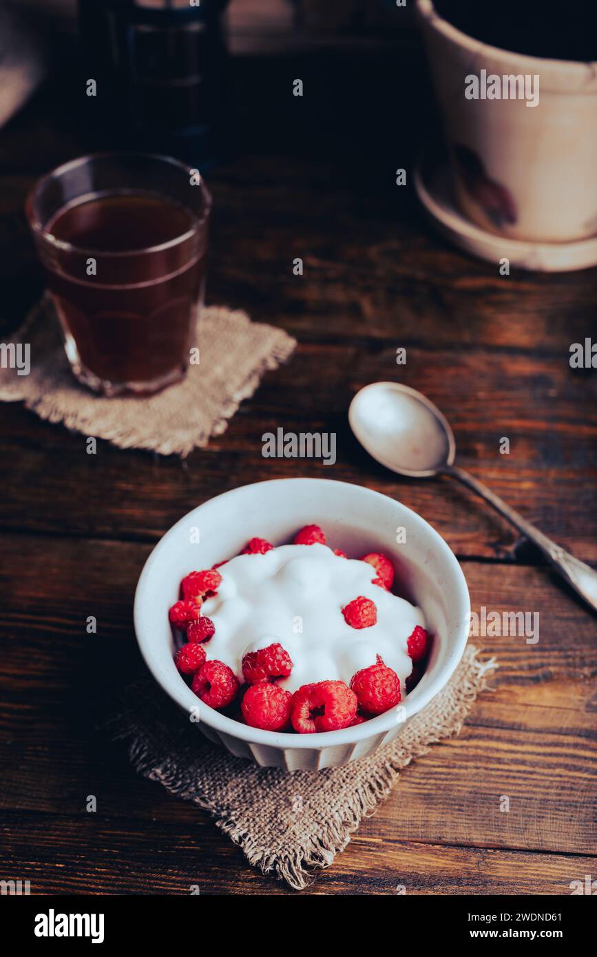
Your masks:
{"label": "frayed burlap mat under the white bowl of raspberries", "polygon": [[[302,890],[329,867],[364,815],[398,780],[400,768],[457,734],[486,686],[494,658],[469,645],[453,679],[391,744],[345,768],[258,768],[211,745],[149,680],[126,689],[106,726],[127,742],[133,767],[166,790],[210,812],[215,824],[264,874]],[[448,757],[447,757],[448,760]]]}

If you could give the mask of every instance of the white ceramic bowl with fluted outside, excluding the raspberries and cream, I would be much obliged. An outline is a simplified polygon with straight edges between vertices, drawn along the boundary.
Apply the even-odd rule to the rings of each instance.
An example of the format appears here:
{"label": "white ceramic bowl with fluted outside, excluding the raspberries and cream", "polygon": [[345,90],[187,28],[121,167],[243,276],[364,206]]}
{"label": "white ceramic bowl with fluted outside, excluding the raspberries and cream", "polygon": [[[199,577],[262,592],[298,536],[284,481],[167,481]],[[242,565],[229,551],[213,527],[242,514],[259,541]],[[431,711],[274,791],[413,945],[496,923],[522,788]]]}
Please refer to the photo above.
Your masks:
{"label": "white ceramic bowl with fluted outside, excluding the raspberries and cream", "polygon": [[[401,593],[425,613],[433,634],[431,656],[425,675],[398,709],[342,731],[262,731],[214,711],[192,693],[174,665],[167,612],[178,599],[181,579],[193,568],[210,568],[230,558],[254,536],[285,544],[298,528],[311,523],[320,524],[328,543],[351,557],[382,551],[393,559]],[[406,542],[397,545],[400,527],[406,529]],[[453,552],[405,505],[347,482],[275,479],[210,499],[166,532],[139,579],[135,631],[153,677],[188,716],[195,716],[196,727],[210,741],[263,767],[294,771],[340,767],[399,735],[453,674],[467,642],[470,610],[467,584]]]}

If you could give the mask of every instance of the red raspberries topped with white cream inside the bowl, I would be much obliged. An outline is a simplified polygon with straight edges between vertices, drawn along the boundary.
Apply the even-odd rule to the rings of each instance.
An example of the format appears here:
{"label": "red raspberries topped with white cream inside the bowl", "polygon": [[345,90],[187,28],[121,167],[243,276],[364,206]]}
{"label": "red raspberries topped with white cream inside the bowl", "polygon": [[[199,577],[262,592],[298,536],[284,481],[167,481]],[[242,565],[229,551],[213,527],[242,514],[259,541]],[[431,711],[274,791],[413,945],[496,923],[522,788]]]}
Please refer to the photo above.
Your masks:
{"label": "red raspberries topped with white cream inside the bowl", "polygon": [[[389,590],[393,577],[387,556],[346,558],[316,525],[291,545],[252,539],[183,580],[170,621],[188,643],[202,642],[208,660],[187,648],[179,670],[205,703],[226,701],[256,727],[310,733],[360,723],[404,697],[413,661],[420,672],[427,654],[423,612]],[[222,682],[220,697],[211,679]]]}

